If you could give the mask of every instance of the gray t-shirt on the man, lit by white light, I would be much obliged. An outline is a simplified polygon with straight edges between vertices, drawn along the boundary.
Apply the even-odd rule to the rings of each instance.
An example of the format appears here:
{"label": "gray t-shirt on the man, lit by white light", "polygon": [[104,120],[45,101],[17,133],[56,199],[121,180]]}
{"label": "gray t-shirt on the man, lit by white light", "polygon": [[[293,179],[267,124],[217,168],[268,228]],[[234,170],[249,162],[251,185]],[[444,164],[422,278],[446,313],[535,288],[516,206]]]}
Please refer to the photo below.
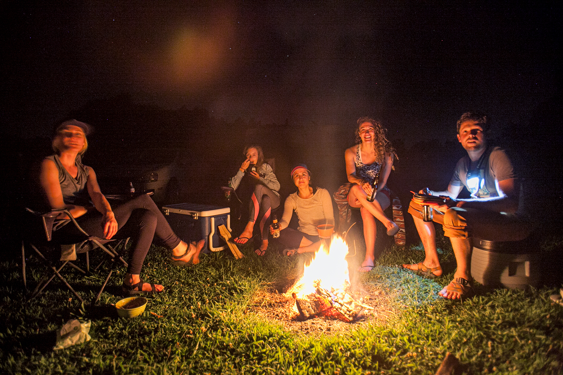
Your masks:
{"label": "gray t-shirt on the man, lit by white light", "polygon": [[470,191],[472,197],[489,198],[499,196],[497,189],[499,181],[516,178],[512,162],[508,159],[506,152],[500,147],[494,147],[489,156],[485,155],[485,159],[481,164],[483,173],[480,186],[477,186],[479,185],[479,179],[475,178],[479,173],[478,171],[475,174],[472,173],[472,178],[469,180],[467,178],[468,171],[475,169],[476,166],[477,162],[471,165],[471,159],[467,155],[459,159],[450,184],[453,186],[465,186]]}

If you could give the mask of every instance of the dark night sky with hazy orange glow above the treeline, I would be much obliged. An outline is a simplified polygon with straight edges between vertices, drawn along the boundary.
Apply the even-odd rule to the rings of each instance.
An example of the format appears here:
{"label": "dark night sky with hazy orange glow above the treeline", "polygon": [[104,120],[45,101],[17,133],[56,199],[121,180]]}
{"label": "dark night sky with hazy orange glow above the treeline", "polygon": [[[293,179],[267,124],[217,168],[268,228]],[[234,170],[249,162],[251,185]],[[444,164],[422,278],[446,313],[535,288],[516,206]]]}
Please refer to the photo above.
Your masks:
{"label": "dark night sky with hazy orange glow above the treeline", "polygon": [[3,130],[46,135],[116,94],[262,123],[372,115],[407,141],[470,109],[513,126],[559,87],[560,6],[521,3],[3,2]]}

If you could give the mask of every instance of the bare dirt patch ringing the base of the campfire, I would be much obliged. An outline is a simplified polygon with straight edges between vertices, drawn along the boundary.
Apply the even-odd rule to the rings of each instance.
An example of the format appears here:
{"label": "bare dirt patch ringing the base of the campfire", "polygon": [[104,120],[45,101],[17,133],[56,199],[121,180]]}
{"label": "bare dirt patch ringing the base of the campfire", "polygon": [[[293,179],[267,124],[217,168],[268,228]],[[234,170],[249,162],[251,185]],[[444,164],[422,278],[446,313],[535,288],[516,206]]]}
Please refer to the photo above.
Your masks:
{"label": "bare dirt patch ringing the base of the campfire", "polygon": [[368,324],[383,325],[395,314],[390,307],[388,295],[373,286],[364,286],[351,293],[354,299],[374,309],[363,309],[352,323],[343,322],[333,317],[315,317],[301,320],[295,307],[295,300],[290,293],[280,293],[279,288],[264,288],[256,292],[248,305],[247,312],[257,314],[263,320],[280,323],[286,331],[298,333],[334,334],[351,331]]}

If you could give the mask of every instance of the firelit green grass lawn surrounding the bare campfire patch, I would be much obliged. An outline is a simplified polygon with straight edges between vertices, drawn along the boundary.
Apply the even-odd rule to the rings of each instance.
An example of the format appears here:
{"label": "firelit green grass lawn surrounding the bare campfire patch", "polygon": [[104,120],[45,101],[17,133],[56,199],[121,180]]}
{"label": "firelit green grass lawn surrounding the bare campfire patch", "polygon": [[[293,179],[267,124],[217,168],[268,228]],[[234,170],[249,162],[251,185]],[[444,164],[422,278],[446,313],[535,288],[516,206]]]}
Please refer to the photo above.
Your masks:
{"label": "firelit green grass lawn surrounding the bare campfire patch", "polygon": [[[550,240],[543,248],[561,249],[561,242]],[[447,246],[441,242],[441,256],[451,263]],[[58,286],[26,302],[19,259],[3,261],[0,373],[433,374],[448,351],[467,374],[562,372],[563,306],[550,303],[549,295],[558,290],[554,287],[477,287],[473,299],[446,301],[436,293],[452,278],[450,270],[433,281],[423,279],[395,266],[422,260],[421,248],[392,247],[373,272],[362,275],[364,283],[386,290],[391,298],[396,313],[386,324],[307,336],[246,311],[253,293],[287,277],[296,260],[275,251],[258,257],[249,246],[241,250],[242,260],[220,252],[203,256],[193,268],[175,268],[167,252],[153,245],[142,277],[164,284],[167,291],[149,297],[145,313],[135,319],[84,309]],[[41,274],[31,269],[33,287]],[[110,292],[120,285],[123,272],[111,279]],[[92,299],[104,275],[77,273],[70,279]],[[104,292],[99,303],[119,299]],[[73,317],[92,320],[92,340],[53,351],[52,332]]]}

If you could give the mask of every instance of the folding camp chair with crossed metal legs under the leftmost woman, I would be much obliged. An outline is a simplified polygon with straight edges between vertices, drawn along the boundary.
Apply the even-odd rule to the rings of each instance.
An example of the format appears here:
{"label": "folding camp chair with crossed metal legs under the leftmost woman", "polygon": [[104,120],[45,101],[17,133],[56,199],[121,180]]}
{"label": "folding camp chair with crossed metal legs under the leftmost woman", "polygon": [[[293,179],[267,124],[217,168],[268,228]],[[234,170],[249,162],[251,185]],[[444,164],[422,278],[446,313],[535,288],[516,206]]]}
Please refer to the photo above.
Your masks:
{"label": "folding camp chair with crossed metal legs under the leftmost woman", "polygon": [[[26,238],[24,238],[21,242],[22,275],[23,275],[25,290],[27,291],[27,282],[25,276],[26,244],[31,246],[33,250],[35,250],[35,252],[38,254],[39,258],[42,259],[43,263],[46,264],[47,267],[53,271],[50,277],[47,276],[43,278],[43,280],[37,284],[37,287],[35,287],[34,291],[32,292],[30,299],[33,299],[35,296],[41,293],[44,290],[44,288],[52,281],[52,279],[55,278],[55,276],[57,276],[66,285],[66,287],[68,287],[69,290],[78,298],[78,300],[84,302],[82,297],[78,295],[78,293],[73,289],[73,287],[70,286],[70,284],[66,281],[66,279],[61,275],[61,270],[68,264],[84,274],[90,272],[90,257],[88,252],[99,247],[100,249],[104,250],[107,255],[109,255],[109,259],[111,260],[111,266],[109,273],[105,278],[104,284],[102,284],[100,291],[96,295],[96,299],[92,301],[92,305],[95,304],[100,299],[100,295],[104,291],[104,288],[108,283],[111,274],[113,273],[115,260],[118,259],[121,261],[121,263],[123,263],[123,265],[127,266],[127,262],[123,260],[123,257],[119,255],[116,249],[122,243],[123,243],[123,249],[125,249],[125,246],[127,245],[129,238],[127,238],[126,240],[103,240],[102,238],[90,236],[88,233],[84,232],[84,230],[80,227],[77,221],[70,214],[70,212],[65,209],[52,210],[44,214],[37,213],[29,208],[26,208],[26,211],[29,214],[29,222],[32,225],[30,228],[28,228],[30,229],[30,231],[26,232]],[[56,235],[56,231],[55,231],[55,236],[53,236],[53,227],[56,226],[55,219],[61,213],[65,213],[70,218],[70,223],[68,223],[67,225],[74,225],[78,229],[78,231],[82,233],[80,237],[62,238],[61,236]],[[118,242],[114,246],[107,245],[108,242],[112,242],[112,241],[118,241]],[[57,245],[62,246],[63,249],[64,248],[75,249],[76,254],[85,252],[87,271],[84,271],[83,269],[79,268],[77,265],[72,263],[72,261],[70,261],[72,260],[73,257],[75,259],[75,254],[74,256],[72,255],[66,256],[64,260],[61,257],[63,263],[60,266],[56,267],[55,265],[53,265],[53,261],[48,260],[47,257],[44,256],[41,251],[39,251],[40,247],[41,248],[44,246],[56,247]],[[104,263],[105,261],[106,260],[102,260],[102,262],[99,265],[97,265],[95,269],[99,268],[102,265],[102,263]]]}

